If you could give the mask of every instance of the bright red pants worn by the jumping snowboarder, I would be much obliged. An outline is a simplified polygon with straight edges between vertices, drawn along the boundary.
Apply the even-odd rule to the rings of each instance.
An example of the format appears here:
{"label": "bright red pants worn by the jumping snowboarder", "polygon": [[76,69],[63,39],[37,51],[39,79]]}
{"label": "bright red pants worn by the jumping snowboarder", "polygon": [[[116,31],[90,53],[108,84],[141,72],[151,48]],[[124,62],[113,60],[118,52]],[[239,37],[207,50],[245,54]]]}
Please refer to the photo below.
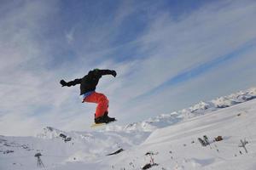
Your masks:
{"label": "bright red pants worn by the jumping snowboarder", "polygon": [[108,111],[108,98],[104,94],[93,92],[84,99],[85,102],[96,103],[96,117],[103,116]]}

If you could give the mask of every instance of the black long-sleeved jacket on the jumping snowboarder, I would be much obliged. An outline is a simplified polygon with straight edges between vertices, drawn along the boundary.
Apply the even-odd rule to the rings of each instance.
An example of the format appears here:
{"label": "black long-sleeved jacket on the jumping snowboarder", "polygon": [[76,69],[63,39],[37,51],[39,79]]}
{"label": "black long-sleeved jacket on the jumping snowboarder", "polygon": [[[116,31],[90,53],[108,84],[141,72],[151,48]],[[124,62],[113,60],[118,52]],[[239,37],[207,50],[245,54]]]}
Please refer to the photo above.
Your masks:
{"label": "black long-sleeved jacket on the jumping snowboarder", "polygon": [[116,76],[115,71],[110,70],[99,70],[95,69],[93,71],[89,71],[87,75],[85,75],[83,78],[75,79],[71,82],[65,82],[62,86],[75,86],[77,84],[80,84],[80,95],[85,94],[90,91],[94,91],[96,89],[96,85],[98,84],[100,78],[104,75],[113,75],[113,77]]}

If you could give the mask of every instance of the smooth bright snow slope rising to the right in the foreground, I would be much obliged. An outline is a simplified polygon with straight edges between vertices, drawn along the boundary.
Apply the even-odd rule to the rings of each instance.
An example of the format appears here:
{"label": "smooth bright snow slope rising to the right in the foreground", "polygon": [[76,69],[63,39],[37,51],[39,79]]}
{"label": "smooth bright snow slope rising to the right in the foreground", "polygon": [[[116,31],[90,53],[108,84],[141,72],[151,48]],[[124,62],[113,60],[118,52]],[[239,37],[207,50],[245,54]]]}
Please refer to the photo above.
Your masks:
{"label": "smooth bright snow slope rising to the right in the foreground", "polygon": [[[103,161],[114,169],[143,167],[154,160],[152,169],[256,169],[256,100],[198,116],[155,130],[143,144]],[[198,138],[207,135],[210,145]],[[222,136],[223,140],[213,142]],[[239,147],[246,140],[247,152]],[[153,153],[152,156],[146,156]],[[151,164],[152,161],[151,161]],[[110,169],[110,168],[105,168]]]}

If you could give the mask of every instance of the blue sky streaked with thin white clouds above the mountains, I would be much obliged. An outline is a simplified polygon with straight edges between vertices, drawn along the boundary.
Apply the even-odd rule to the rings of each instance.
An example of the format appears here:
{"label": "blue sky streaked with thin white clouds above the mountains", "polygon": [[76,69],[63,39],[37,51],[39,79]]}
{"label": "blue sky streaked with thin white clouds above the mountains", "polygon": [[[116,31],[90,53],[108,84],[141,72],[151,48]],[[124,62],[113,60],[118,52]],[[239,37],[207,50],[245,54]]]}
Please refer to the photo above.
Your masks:
{"label": "blue sky streaked with thin white clouds above the mountains", "polygon": [[253,0],[1,1],[0,134],[90,130],[59,81],[93,68],[118,73],[97,91],[119,125],[254,87],[255,23]]}

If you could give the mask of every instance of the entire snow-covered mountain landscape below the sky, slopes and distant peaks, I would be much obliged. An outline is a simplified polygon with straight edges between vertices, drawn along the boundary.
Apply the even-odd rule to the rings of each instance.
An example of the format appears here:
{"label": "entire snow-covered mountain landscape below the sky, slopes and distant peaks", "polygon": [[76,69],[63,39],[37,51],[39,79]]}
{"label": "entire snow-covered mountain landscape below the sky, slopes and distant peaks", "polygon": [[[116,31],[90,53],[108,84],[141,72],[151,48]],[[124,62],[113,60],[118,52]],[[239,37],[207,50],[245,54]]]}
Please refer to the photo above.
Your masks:
{"label": "entire snow-covered mountain landscape below the sky, slopes and distant peaks", "polygon": [[251,88],[124,127],[110,124],[94,132],[45,127],[36,137],[0,136],[0,170],[253,170],[255,98]]}

